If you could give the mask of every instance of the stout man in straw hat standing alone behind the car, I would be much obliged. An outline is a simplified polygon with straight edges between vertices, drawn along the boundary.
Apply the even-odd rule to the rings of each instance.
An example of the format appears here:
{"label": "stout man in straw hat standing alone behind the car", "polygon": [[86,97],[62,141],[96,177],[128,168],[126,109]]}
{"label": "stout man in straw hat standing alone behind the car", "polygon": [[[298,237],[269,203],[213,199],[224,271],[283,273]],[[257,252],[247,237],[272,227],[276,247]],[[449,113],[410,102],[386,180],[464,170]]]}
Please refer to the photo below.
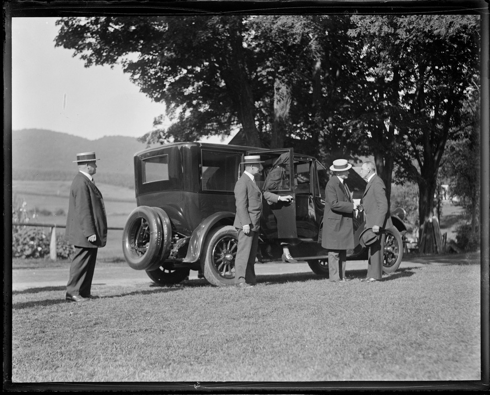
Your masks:
{"label": "stout man in straw hat standing alone behind the car", "polygon": [[76,154],[78,174],[70,188],[65,239],[75,246],[66,287],[66,300],[85,302],[96,299],[90,293],[97,250],[106,245],[107,218],[104,200],[95,186],[95,152]]}

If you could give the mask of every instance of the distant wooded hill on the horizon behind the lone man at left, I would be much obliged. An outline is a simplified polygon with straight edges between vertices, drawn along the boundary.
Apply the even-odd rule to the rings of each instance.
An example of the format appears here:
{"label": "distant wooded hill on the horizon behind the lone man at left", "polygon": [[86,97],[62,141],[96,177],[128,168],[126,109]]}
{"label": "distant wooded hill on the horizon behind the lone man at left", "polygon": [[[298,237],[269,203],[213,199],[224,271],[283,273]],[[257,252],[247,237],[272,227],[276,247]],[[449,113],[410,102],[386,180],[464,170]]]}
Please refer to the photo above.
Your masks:
{"label": "distant wooded hill on the horizon behind the lone man at left", "polygon": [[97,140],[45,129],[12,131],[12,178],[71,180],[77,171],[76,154],[95,151],[97,179],[134,188],[133,156],[146,144],[134,137],[106,136]]}

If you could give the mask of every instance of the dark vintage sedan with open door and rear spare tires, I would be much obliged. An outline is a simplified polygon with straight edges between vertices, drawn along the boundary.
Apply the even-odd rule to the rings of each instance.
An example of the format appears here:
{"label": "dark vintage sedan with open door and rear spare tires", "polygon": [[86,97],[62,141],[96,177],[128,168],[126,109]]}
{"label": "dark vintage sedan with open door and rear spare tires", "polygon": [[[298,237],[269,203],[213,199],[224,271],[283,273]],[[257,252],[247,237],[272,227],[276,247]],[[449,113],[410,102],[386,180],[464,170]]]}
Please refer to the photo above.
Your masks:
{"label": "dark vintage sedan with open door and rear spare tires", "polygon": [[[158,284],[184,280],[190,270],[217,286],[234,283],[237,233],[233,227],[233,189],[240,177],[245,155],[259,154],[265,161],[257,180],[266,186],[273,164],[285,158],[285,181],[274,193],[292,195],[293,203],[264,201],[258,260],[280,261],[279,240],[287,240],[291,254],[306,262],[319,276],[328,276],[328,251],[321,246],[325,186],[329,170],[317,159],[293,149],[266,150],[209,143],[173,143],[134,155],[135,190],[138,207],[129,215],[122,248],[128,265],[145,270]],[[347,179],[354,199],[364,193],[366,181],[354,170]],[[400,266],[406,232],[405,211],[391,213],[393,228],[386,230],[383,271]],[[356,213],[356,247],[348,259],[366,257],[359,244],[364,213]]]}

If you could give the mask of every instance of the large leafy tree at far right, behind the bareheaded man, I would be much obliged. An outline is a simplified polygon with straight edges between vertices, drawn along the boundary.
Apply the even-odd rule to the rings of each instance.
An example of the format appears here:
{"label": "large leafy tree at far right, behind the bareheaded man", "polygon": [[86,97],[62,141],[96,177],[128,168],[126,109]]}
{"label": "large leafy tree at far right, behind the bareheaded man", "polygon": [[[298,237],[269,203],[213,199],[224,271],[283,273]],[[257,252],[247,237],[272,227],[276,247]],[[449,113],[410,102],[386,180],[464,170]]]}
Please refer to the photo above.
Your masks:
{"label": "large leafy tree at far right, behind the bareheaded man", "polygon": [[[419,188],[419,223],[432,216],[441,159],[479,69],[475,15],[353,17],[364,41],[366,100],[355,118],[369,127],[368,146],[386,181]],[[373,64],[369,65],[369,62]]]}

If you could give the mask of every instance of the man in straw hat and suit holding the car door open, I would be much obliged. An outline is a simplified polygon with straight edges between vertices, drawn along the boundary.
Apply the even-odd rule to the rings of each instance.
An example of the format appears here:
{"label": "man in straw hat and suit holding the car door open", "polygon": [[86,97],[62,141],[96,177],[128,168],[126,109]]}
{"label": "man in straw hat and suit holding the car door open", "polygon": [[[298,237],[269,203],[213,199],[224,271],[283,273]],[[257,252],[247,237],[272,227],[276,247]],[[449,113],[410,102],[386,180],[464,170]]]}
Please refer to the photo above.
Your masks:
{"label": "man in straw hat and suit holding the car door open", "polygon": [[236,214],[233,226],[238,232],[238,247],[235,256],[235,285],[249,288],[257,283],[255,257],[259,246],[259,231],[262,217],[262,197],[267,201],[291,202],[293,197],[279,196],[262,191],[255,183],[255,176],[262,174],[264,167],[259,155],[250,155],[242,162],[245,171],[235,184]]}

